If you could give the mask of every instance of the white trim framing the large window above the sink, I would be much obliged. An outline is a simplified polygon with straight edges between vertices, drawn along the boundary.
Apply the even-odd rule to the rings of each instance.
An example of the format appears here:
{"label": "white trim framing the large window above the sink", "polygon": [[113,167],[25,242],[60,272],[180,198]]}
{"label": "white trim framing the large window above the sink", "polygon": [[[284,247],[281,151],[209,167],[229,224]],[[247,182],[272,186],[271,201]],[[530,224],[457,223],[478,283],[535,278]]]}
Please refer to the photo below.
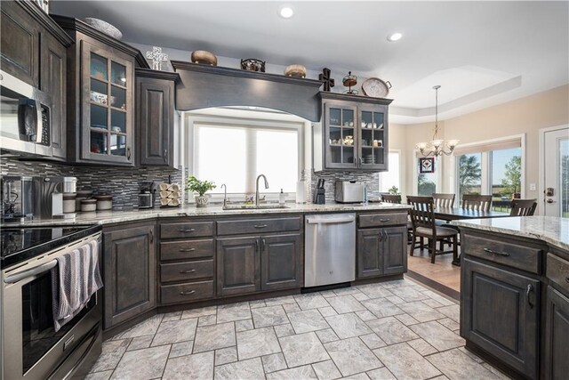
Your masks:
{"label": "white trim framing the large window above the sink", "polygon": [[[295,117],[293,115],[282,114],[282,118],[279,119],[269,119],[269,118],[253,118],[253,117],[234,117],[234,116],[219,116],[219,115],[209,115],[209,114],[200,114],[200,113],[187,113],[185,115],[185,126],[186,131],[188,133],[187,147],[189,149],[185,149],[185,164],[188,167],[188,175],[194,174],[194,155],[193,152],[195,150],[195,140],[194,140],[194,128],[195,125],[228,125],[228,126],[258,126],[264,129],[296,129],[297,137],[298,137],[298,174],[299,177],[301,176],[302,169],[304,168],[305,163],[305,152],[304,152],[304,126],[305,121],[300,117]],[[270,178],[268,179],[270,181]],[[220,187],[220,183],[217,184],[218,189]],[[216,190],[218,190],[216,189]],[[278,192],[265,192],[261,191],[262,196],[266,196],[267,200],[278,200]],[[250,195],[249,193],[235,193],[235,192],[228,192],[227,196],[228,199],[234,201],[244,201],[245,197]],[[221,203],[223,202],[223,194],[212,194],[211,202],[213,203]],[[296,192],[288,192],[286,193],[286,200],[295,200],[296,199]],[[186,203],[194,203],[193,194],[188,193],[186,196]]]}

